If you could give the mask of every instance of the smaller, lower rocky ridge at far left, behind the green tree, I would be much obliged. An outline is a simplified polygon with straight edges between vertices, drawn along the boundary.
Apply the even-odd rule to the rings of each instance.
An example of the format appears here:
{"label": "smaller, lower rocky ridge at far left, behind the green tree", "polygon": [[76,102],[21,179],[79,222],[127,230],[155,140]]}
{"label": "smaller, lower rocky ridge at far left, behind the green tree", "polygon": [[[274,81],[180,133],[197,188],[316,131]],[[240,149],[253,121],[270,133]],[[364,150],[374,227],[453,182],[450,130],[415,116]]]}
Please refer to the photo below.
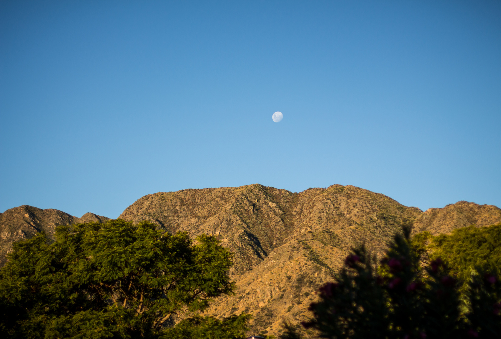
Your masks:
{"label": "smaller, lower rocky ridge at far left, behind the green tree", "polygon": [[0,267],[4,266],[6,255],[12,251],[12,243],[29,239],[35,234],[45,231],[52,238],[57,225],[74,223],[103,222],[109,218],[86,213],[77,218],[59,210],[42,210],[23,205],[0,213]]}

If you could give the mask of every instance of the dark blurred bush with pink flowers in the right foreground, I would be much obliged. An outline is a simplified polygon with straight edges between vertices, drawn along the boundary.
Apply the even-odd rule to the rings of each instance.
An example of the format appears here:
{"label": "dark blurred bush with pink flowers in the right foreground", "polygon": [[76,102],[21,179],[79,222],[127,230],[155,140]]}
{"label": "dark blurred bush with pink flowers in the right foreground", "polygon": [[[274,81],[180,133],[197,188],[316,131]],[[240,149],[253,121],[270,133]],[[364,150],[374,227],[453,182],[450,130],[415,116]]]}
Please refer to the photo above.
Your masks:
{"label": "dark blurred bush with pink flowers in the right foreground", "polygon": [[423,265],[427,252],[409,234],[404,227],[377,269],[364,247],[353,250],[303,325],[337,339],[500,337],[499,277],[477,268],[467,284],[468,310],[460,314],[461,282],[439,258]]}

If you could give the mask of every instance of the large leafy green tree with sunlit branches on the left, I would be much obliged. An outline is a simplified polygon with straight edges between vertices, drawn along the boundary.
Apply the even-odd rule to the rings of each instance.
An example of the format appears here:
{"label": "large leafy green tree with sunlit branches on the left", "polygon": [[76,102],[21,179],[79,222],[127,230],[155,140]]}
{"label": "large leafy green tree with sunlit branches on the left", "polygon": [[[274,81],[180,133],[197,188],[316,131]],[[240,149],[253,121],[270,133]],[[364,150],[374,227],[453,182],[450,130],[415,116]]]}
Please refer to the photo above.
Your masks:
{"label": "large leafy green tree with sunlit branches on the left", "polygon": [[[14,244],[0,270],[4,334],[167,339],[214,325],[217,337],[243,336],[248,315],[198,315],[235,288],[226,274],[232,254],[214,237],[192,242],[149,222],[112,220],[59,226],[55,239],[49,243],[41,233]],[[178,315],[185,320],[166,326]]]}

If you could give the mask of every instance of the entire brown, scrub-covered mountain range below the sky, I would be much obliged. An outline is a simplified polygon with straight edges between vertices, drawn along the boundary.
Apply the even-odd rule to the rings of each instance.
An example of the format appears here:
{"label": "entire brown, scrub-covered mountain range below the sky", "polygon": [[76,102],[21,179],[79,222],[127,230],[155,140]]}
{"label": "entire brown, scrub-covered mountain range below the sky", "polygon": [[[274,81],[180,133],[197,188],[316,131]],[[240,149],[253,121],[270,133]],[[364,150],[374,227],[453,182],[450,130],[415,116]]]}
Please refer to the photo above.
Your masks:
{"label": "entire brown, scrub-covered mountain range below the sky", "polygon": [[[18,230],[29,238],[40,230],[53,232],[58,223],[87,221],[84,218],[107,219],[92,214],[76,218],[57,210],[22,206],[0,215],[0,233],[10,232],[2,240],[8,246],[18,239]],[[387,242],[401,232],[402,222],[413,222],[414,232],[448,233],[471,224],[497,223],[501,209],[458,202],[422,212],[354,186],[292,193],[254,184],[147,195],[119,218],[149,220],[168,232],[186,231],[192,237],[216,236],[235,254],[229,274],[238,289],[235,296],[216,299],[207,313],[250,312],[253,332],[276,335],[283,319],[299,323],[308,317],[315,291],[333,279],[353,246],[364,243],[381,256]]]}

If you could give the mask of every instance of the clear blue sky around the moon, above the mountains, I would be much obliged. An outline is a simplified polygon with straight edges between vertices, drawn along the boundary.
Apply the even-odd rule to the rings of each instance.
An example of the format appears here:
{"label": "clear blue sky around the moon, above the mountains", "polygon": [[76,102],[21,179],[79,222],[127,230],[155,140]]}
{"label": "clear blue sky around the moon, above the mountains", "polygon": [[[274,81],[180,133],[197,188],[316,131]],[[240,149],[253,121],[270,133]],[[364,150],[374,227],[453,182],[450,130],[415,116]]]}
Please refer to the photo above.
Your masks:
{"label": "clear blue sky around the moon, above the mountains", "polygon": [[3,1],[0,93],[1,212],[253,183],[501,207],[499,2]]}

